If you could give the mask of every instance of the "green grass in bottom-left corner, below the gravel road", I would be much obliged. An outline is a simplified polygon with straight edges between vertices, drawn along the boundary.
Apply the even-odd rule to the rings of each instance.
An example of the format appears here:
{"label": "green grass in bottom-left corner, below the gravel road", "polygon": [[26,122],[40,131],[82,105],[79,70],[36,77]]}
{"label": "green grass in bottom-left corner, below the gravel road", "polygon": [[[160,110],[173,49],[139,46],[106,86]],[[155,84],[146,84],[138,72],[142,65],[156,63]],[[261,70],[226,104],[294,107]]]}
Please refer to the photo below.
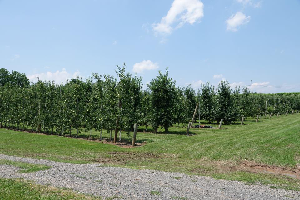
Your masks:
{"label": "green grass in bottom-left corner, below the gravel road", "polygon": [[0,199],[3,200],[100,200],[101,197],[78,194],[72,190],[0,178]]}

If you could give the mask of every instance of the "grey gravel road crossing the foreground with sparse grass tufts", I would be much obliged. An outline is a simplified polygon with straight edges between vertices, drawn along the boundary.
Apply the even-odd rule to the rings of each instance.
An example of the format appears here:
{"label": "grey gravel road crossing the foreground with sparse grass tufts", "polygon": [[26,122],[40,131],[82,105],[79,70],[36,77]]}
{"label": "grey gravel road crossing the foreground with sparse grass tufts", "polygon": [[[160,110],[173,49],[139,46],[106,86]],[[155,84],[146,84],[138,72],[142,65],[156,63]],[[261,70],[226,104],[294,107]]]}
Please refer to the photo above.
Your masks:
{"label": "grey gravel road crossing the foreground with sparse grass tufts", "polygon": [[[0,165],[2,178],[26,178],[38,184],[121,199],[300,199],[300,192],[270,189],[260,183],[215,180],[155,170],[102,167],[101,164],[70,164],[0,154],[0,159],[46,164],[52,168],[20,174],[20,169]],[[174,178],[175,177],[175,178]],[[159,195],[151,191],[160,192]],[[293,197],[293,198],[292,198]]]}

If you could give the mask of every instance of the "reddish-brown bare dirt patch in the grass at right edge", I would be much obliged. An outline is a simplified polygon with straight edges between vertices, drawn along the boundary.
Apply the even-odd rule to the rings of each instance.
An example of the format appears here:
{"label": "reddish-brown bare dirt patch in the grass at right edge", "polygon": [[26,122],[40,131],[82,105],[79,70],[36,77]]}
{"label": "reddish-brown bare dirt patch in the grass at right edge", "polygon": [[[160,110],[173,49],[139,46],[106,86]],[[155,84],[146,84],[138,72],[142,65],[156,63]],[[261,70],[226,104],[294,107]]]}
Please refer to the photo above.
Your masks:
{"label": "reddish-brown bare dirt patch in the grass at right edge", "polygon": [[300,165],[297,165],[297,168],[291,169],[244,161],[241,165],[237,167],[237,169],[250,172],[280,174],[300,179]]}

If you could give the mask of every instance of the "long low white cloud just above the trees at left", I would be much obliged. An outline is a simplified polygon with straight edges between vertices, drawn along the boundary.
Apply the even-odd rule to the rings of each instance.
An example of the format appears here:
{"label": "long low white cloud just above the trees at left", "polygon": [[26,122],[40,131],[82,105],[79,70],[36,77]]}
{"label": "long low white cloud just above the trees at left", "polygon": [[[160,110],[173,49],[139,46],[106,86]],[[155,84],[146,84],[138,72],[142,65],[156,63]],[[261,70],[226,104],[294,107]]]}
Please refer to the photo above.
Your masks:
{"label": "long low white cloud just above the trees at left", "polygon": [[32,75],[27,75],[27,78],[29,78],[32,82],[37,82],[37,77],[44,81],[55,81],[55,83],[66,83],[67,79],[76,78],[76,76],[79,76],[80,72],[77,70],[74,73],[69,73],[66,71],[65,68],[62,69],[62,71],[57,70],[56,72],[46,72],[46,73],[37,73]]}

